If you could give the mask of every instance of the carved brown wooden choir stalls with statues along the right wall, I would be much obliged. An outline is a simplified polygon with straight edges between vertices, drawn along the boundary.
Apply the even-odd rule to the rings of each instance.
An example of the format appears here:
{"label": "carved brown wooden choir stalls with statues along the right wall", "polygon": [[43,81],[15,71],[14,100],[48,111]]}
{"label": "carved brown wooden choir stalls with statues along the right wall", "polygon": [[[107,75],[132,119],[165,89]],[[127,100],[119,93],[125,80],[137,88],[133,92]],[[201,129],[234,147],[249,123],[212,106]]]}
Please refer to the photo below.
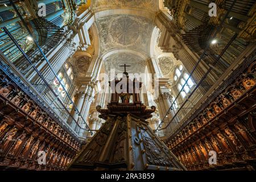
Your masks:
{"label": "carved brown wooden choir stalls with statues along the right wall", "polygon": [[[246,60],[254,57],[255,52]],[[167,146],[187,169],[256,168],[256,61],[237,73],[224,91],[168,140]],[[216,165],[209,165],[209,151],[216,151]]]}

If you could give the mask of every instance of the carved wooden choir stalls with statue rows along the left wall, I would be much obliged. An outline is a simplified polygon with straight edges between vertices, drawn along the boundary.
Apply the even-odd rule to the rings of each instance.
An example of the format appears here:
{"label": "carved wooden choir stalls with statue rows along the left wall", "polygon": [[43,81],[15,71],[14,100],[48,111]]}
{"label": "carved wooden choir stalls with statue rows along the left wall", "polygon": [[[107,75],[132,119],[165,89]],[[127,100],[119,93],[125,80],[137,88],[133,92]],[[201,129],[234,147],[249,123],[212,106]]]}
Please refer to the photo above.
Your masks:
{"label": "carved wooden choir stalls with statue rows along the left wall", "polygon": [[[80,140],[7,65],[0,66],[5,68],[5,73],[0,71],[0,169],[65,169],[79,151]],[[38,163],[40,151],[46,154],[44,165]]]}

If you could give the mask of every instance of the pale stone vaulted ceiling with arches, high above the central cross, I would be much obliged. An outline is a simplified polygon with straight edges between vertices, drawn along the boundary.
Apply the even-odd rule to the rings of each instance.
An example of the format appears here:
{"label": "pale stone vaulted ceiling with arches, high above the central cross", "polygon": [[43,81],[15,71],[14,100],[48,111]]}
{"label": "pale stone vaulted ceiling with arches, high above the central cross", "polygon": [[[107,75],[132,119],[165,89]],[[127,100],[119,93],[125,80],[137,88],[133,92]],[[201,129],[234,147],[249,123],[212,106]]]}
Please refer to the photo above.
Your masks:
{"label": "pale stone vaulted ceiling with arches, high above the central cross", "polygon": [[93,1],[106,72],[115,68],[122,73],[119,65],[125,63],[131,65],[127,69],[130,73],[144,72],[158,10],[158,0]]}

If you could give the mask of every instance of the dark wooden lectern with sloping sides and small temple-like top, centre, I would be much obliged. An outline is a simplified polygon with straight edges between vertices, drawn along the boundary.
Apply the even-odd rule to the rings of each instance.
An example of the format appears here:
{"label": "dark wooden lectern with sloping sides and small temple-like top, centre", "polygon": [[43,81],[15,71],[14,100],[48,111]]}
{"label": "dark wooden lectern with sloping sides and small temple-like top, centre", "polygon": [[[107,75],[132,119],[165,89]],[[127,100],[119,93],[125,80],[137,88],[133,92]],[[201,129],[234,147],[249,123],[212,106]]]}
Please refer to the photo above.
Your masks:
{"label": "dark wooden lectern with sloping sides and small temple-like top, centre", "polygon": [[142,104],[142,82],[136,78],[131,81],[124,72],[121,80],[115,78],[109,83],[112,97],[108,109],[97,106],[106,122],[82,148],[69,170],[185,170],[148,126],[146,119],[152,117],[156,108],[146,109]]}

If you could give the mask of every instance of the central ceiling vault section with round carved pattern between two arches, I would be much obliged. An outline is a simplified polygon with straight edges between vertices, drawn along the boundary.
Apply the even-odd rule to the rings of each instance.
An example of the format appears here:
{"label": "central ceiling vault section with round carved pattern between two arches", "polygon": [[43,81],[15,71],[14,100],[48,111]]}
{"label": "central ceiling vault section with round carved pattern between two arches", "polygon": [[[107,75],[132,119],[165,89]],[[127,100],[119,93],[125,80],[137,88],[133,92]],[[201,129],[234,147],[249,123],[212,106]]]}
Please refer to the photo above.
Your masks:
{"label": "central ceiling vault section with round carved pattern between two arches", "polygon": [[150,20],[131,15],[112,15],[97,21],[101,52],[125,48],[149,52],[153,24]]}

